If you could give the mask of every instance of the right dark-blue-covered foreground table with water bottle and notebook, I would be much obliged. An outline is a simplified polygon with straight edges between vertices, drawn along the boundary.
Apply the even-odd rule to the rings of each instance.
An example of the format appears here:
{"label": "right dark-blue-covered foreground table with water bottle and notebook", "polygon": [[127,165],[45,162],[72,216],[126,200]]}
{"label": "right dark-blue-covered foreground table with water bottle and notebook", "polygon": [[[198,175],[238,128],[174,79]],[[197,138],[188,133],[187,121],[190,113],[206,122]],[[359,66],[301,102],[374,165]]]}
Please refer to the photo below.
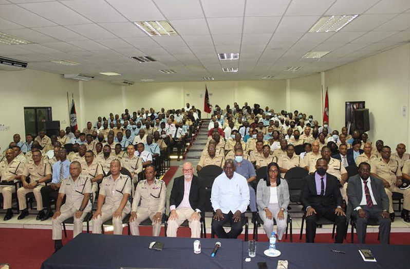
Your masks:
{"label": "right dark-blue-covered foreground table with water bottle and notebook", "polygon": [[[361,245],[361,244],[321,244],[321,243],[278,243],[281,256],[270,258],[264,255],[269,242],[256,243],[256,257],[245,262],[248,257],[248,242],[243,242],[243,269],[255,269],[258,262],[266,262],[268,269],[275,269],[278,260],[288,260],[289,269],[388,269],[410,268],[410,246],[408,245]],[[359,249],[370,249],[377,262],[365,262]],[[346,254],[331,252],[341,250]]]}

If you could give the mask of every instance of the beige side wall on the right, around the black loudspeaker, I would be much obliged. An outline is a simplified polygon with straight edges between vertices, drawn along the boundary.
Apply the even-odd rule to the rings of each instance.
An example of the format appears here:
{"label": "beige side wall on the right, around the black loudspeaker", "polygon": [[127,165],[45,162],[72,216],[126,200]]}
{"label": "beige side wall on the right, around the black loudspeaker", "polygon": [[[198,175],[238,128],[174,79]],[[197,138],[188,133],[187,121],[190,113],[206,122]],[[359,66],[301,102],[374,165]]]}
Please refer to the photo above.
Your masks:
{"label": "beige side wall on the right, around the black loudspeaker", "polygon": [[344,124],[345,101],[365,101],[370,113],[370,139],[384,140],[392,151],[399,142],[409,145],[409,117],[401,113],[402,106],[409,107],[409,60],[407,44],[326,71],[330,126]]}

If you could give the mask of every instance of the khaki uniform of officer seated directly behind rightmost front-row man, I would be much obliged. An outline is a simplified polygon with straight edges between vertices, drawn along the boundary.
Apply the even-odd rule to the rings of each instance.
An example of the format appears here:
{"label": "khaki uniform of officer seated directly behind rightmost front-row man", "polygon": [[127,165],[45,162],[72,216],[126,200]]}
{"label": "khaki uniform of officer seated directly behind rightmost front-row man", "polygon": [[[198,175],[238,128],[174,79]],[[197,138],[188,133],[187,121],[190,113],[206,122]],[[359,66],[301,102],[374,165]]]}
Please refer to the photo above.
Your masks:
{"label": "khaki uniform of officer seated directly behind rightmost front-row man", "polygon": [[389,201],[389,212],[394,212],[392,192],[402,193],[404,200],[403,208],[406,210],[410,210],[410,189],[402,190],[397,188],[395,185],[397,177],[402,175],[399,162],[396,159],[390,158],[388,163],[386,163],[384,162],[383,158],[379,157],[372,159],[370,165],[371,173],[377,174],[379,177],[383,178],[383,180],[387,181],[390,184],[389,188],[384,188]]}

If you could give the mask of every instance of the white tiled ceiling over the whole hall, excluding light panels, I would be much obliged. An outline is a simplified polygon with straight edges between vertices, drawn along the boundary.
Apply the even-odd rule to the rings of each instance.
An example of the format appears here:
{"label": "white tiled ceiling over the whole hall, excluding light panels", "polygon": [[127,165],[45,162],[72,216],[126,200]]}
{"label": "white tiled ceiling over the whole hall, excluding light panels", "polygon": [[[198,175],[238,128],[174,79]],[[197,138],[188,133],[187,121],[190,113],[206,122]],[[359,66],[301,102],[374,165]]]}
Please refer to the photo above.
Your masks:
{"label": "white tiled ceiling over the whole hall, excluding light panels", "polygon": [[[308,33],[322,15],[360,14],[337,33]],[[135,21],[167,20],[178,36],[149,37]],[[34,44],[0,45],[0,56],[57,74],[101,80],[295,78],[410,40],[409,0],[0,0],[0,31]],[[322,59],[301,58],[331,51]],[[239,52],[219,61],[217,53]],[[157,62],[138,63],[132,56]],[[52,60],[81,63],[64,66]],[[296,72],[288,66],[303,66]],[[238,67],[223,73],[222,67]],[[159,69],[174,69],[162,74]],[[108,77],[100,72],[116,72]]]}

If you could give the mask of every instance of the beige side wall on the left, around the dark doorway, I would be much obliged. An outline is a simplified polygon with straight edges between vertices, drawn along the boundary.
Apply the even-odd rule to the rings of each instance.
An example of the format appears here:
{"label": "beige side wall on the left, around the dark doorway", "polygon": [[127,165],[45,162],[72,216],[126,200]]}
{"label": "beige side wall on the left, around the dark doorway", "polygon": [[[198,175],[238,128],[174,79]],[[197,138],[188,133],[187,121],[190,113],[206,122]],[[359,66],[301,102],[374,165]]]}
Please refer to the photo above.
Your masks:
{"label": "beige side wall on the left, around the dark doorway", "polygon": [[[61,127],[69,124],[67,92],[78,99],[78,82],[61,75],[36,70],[0,71],[0,96],[2,97],[0,124],[8,127],[0,132],[3,150],[19,133],[25,141],[24,107],[51,106],[53,120],[60,120]],[[76,105],[77,106],[77,105]]]}

